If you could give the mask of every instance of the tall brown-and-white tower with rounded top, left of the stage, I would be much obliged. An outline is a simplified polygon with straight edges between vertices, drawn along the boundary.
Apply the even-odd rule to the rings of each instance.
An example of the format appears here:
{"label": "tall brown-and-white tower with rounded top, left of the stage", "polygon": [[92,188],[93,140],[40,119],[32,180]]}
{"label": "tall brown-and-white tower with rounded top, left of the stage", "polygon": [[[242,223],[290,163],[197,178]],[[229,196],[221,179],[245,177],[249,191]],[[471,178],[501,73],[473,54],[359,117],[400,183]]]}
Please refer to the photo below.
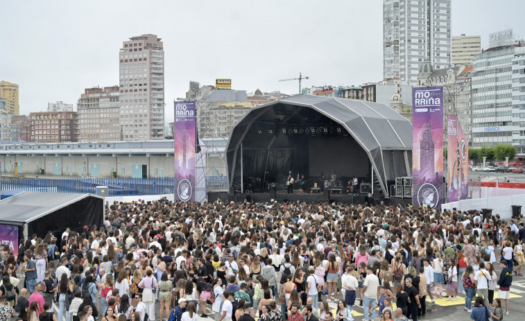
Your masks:
{"label": "tall brown-and-white tower with rounded top, left of the stage", "polygon": [[164,47],[140,35],[120,49],[120,125],[123,139],[164,139]]}

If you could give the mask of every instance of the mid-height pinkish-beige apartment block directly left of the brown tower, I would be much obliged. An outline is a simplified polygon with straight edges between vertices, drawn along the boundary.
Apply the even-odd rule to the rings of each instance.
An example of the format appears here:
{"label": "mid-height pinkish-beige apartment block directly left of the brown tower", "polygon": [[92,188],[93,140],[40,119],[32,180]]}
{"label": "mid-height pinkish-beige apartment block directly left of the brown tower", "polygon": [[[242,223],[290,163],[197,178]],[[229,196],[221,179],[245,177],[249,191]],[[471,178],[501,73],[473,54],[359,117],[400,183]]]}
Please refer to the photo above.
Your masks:
{"label": "mid-height pinkish-beige apartment block directly left of the brown tower", "polygon": [[119,86],[85,89],[77,103],[79,141],[121,140],[119,95]]}

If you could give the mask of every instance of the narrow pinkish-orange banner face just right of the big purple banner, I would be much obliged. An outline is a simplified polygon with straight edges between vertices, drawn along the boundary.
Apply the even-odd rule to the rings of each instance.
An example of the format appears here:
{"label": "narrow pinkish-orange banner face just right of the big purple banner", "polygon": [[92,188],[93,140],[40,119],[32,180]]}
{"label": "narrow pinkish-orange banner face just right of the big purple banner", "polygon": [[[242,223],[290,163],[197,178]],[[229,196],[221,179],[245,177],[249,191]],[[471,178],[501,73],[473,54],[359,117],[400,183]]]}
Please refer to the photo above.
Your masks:
{"label": "narrow pinkish-orange banner face just right of the big purple banner", "polygon": [[447,121],[447,201],[458,200],[458,116],[448,115]]}

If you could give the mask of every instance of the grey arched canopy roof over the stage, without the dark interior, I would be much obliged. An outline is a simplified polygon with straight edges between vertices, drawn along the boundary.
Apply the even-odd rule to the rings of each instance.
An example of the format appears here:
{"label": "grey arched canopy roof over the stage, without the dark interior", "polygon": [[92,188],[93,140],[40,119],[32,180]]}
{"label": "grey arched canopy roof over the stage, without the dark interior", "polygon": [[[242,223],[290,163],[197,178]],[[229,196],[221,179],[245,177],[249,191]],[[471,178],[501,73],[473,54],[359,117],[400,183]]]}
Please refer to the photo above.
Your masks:
{"label": "grey arched canopy roof over the stage, without the dark interior", "polygon": [[[313,114],[318,114],[318,118]],[[297,95],[254,107],[236,123],[226,146],[230,189],[237,175],[235,164],[239,159],[239,147],[250,140],[252,143],[261,140],[261,137],[254,138],[250,130],[275,123],[278,116],[279,125],[284,126],[304,121],[305,117],[307,126],[316,126],[326,118],[341,125],[368,155],[374,175],[387,197],[387,180],[411,175],[412,124],[408,119],[380,103]],[[348,166],[352,166],[351,162]]]}

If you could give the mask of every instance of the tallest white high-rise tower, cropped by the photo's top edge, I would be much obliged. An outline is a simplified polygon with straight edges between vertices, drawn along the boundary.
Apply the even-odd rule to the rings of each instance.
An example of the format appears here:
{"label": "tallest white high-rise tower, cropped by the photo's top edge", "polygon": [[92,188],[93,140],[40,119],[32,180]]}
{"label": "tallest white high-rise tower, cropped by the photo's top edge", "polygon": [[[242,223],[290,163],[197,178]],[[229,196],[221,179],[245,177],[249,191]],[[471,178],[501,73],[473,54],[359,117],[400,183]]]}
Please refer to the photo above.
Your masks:
{"label": "tallest white high-rise tower, cropped by the photo's top edge", "polygon": [[420,65],[451,64],[451,0],[383,0],[384,80],[418,82]]}

